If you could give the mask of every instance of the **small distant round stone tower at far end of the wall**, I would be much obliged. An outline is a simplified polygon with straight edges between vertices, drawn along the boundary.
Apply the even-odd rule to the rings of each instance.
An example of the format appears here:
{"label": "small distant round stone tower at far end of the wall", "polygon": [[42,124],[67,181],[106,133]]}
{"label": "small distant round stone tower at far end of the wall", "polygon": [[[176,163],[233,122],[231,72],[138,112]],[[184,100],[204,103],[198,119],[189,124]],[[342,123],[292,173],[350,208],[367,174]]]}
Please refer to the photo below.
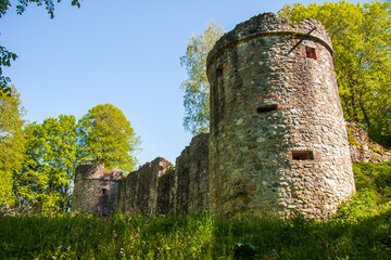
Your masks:
{"label": "small distant round stone tower at far end of the wall", "polygon": [[122,170],[105,173],[102,165],[85,164],[76,168],[72,211],[114,211]]}

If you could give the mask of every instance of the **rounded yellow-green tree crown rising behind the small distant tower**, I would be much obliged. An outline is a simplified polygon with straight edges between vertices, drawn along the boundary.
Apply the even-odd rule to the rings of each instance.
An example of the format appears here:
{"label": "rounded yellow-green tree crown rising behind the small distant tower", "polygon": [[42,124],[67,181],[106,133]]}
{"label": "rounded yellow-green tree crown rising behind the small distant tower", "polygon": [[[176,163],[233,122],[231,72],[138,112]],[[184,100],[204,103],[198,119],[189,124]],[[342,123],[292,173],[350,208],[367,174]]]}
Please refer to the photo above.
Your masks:
{"label": "rounded yellow-green tree crown rising behind the small distant tower", "polygon": [[102,164],[106,169],[135,169],[140,139],[121,109],[112,104],[97,105],[78,121],[80,162]]}

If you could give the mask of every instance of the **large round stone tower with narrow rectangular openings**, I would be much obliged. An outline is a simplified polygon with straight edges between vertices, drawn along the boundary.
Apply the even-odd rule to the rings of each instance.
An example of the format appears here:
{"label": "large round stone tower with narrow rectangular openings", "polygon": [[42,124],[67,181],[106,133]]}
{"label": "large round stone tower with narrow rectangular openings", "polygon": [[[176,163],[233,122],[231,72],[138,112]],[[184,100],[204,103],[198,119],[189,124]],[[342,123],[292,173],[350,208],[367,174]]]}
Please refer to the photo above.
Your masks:
{"label": "large round stone tower with narrow rectangular openings", "polygon": [[264,13],[207,56],[215,214],[323,218],[355,191],[331,40]]}

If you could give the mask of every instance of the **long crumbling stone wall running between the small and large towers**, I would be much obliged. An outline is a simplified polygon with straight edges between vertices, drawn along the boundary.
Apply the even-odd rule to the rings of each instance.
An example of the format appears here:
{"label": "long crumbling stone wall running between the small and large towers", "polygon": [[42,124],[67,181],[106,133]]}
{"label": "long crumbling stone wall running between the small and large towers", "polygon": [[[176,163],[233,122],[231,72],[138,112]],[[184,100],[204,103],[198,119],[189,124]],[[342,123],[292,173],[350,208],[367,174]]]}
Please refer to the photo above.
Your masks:
{"label": "long crumbling stone wall running between the small and large towers", "polygon": [[209,134],[194,136],[176,168],[156,158],[119,183],[117,210],[142,213],[193,212],[209,209]]}

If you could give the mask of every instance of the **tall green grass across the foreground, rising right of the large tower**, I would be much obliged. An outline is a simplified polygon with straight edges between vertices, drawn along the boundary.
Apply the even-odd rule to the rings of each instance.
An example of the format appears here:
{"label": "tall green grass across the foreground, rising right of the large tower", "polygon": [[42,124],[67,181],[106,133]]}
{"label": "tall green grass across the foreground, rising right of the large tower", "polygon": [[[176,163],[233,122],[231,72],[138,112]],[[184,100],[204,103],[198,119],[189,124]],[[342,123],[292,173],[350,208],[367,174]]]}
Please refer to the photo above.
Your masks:
{"label": "tall green grass across the foreground, rising right of the large tower", "polygon": [[0,259],[391,259],[391,162],[355,166],[356,195],[328,220],[205,211],[0,217]]}

